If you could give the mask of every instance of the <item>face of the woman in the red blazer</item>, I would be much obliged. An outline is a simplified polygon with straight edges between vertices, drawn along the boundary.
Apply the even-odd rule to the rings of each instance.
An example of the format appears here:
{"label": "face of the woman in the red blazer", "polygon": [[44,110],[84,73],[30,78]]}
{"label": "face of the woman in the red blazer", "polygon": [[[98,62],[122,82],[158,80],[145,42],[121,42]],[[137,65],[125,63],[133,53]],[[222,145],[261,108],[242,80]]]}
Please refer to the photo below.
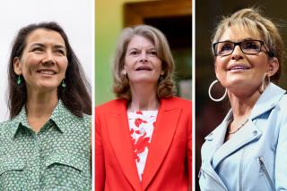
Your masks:
{"label": "face of the woman in the red blazer", "polygon": [[123,72],[130,84],[149,82],[157,85],[164,72],[156,47],[146,37],[135,35],[128,43]]}

